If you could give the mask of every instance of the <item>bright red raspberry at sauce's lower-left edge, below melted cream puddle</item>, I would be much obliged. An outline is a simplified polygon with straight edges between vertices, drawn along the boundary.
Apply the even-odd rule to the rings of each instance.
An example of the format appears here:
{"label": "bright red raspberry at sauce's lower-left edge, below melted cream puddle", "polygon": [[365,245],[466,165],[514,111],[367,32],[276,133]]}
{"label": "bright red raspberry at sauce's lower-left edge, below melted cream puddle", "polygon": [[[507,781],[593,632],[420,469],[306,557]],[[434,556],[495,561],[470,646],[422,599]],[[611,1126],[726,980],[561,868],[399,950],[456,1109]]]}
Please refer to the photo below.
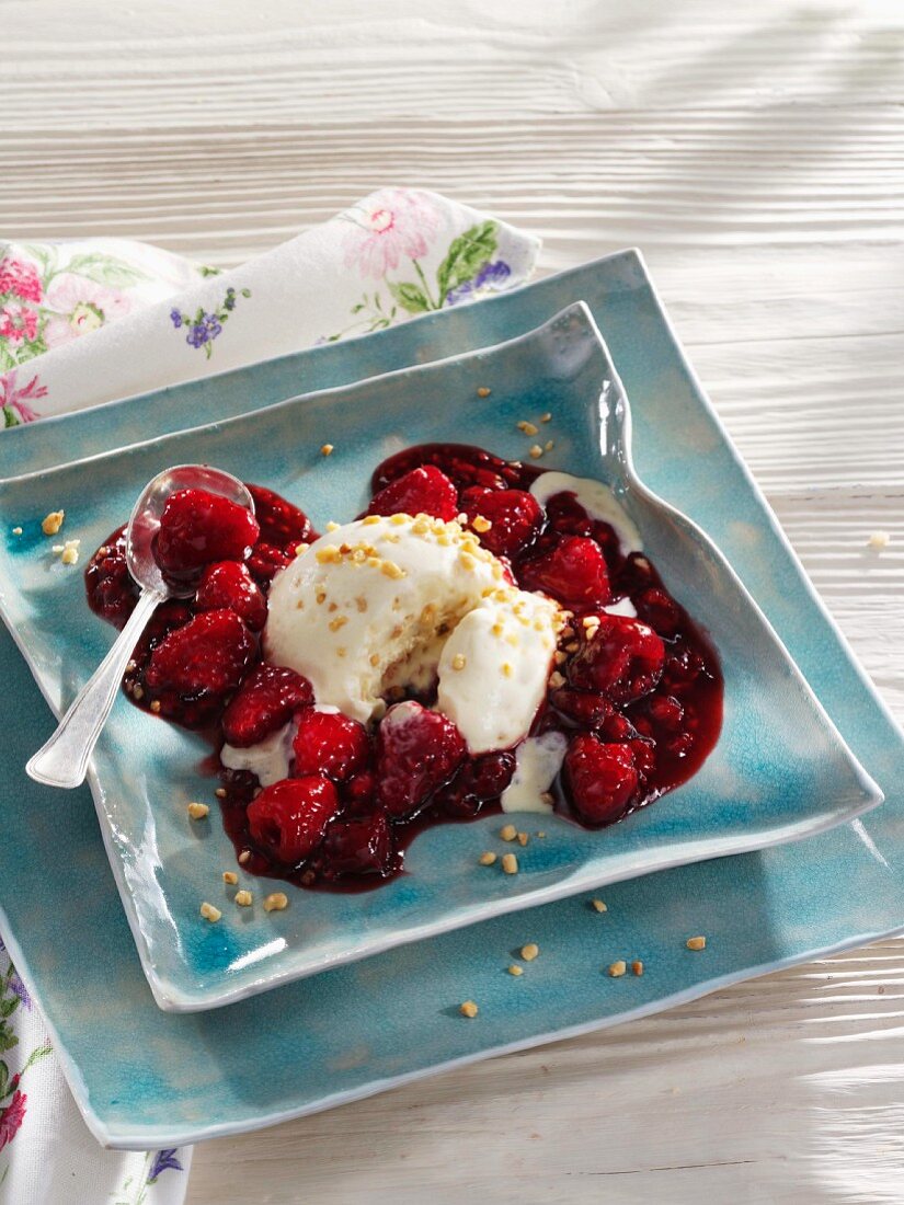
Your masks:
{"label": "bright red raspberry at sauce's lower-left edge, below melted cream puddle", "polygon": [[339,811],[336,788],[319,774],[282,778],[248,804],[248,831],[282,863],[297,865],[317,848]]}

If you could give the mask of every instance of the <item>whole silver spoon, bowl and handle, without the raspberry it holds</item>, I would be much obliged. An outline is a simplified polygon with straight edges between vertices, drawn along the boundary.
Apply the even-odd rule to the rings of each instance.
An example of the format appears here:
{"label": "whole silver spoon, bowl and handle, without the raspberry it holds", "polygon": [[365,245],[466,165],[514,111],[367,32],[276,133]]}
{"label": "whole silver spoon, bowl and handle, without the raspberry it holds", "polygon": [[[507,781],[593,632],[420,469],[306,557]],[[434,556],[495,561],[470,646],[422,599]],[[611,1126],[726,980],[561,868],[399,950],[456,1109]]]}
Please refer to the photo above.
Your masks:
{"label": "whole silver spoon, bowl and handle, without the raspberry it holds", "polygon": [[145,486],[125,533],[127,564],[141,587],[141,594],[112,648],[78,692],[57,731],[25,766],[35,782],[65,788],[84,782],[88,760],[116,700],[125,666],[154,609],[168,598],[194,594],[192,584],[176,588],[165,582],[152,553],[152,541],[166,499],[177,489],[189,488],[222,494],[254,513],[254,502],[245,486],[221,469],[180,464],[164,469]]}

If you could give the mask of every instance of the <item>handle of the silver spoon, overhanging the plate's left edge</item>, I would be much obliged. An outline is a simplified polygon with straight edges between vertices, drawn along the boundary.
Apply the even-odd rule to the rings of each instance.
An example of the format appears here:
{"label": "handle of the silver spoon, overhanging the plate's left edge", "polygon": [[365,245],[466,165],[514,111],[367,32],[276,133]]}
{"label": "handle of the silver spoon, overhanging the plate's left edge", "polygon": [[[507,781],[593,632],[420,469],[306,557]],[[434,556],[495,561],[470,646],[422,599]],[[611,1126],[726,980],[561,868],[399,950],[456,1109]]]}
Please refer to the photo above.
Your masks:
{"label": "handle of the silver spoon, overhanging the plate's left edge", "polygon": [[113,706],[135,643],[163,600],[158,590],[142,589],[110,652],[78,692],[57,731],[25,766],[35,782],[66,788],[84,782],[88,759]]}

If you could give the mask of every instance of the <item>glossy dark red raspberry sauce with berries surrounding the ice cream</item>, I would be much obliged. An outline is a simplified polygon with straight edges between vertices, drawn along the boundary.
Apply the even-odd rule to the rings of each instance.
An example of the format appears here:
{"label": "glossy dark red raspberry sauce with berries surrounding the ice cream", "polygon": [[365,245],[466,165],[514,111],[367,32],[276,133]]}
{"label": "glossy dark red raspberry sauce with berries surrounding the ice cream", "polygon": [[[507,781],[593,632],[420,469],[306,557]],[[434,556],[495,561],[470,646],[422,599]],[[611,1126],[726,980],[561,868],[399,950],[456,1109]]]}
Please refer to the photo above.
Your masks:
{"label": "glossy dark red raspberry sauce with berries surrounding the ice cream", "polygon": [[[518,586],[573,613],[532,731],[569,741],[556,811],[601,828],[699,769],[722,724],[722,676],[712,645],[645,557],[623,557],[612,528],[574,494],[538,506],[529,488],[542,471],[465,445],[422,445],[376,469],[368,510],[466,515]],[[216,517],[209,499],[176,507],[168,571],[196,575],[198,592],[158,610],[123,688],[137,706],[209,734],[217,751],[224,734],[247,746],[294,717],[292,777],[276,787],[262,790],[252,774],[207,759],[225,788],[225,830],[252,874],[327,890],[376,887],[401,871],[406,846],[425,828],[500,811],[515,752],[469,757],[454,725],[429,710],[429,694],[406,703],[400,729],[312,711],[310,683],[263,662],[259,633],[270,581],[317,534],[298,507],[250,488],[256,522],[223,516],[229,539],[194,539],[198,516],[201,527],[205,513]],[[480,533],[483,519],[492,525]],[[122,528],[84,576],[92,610],[122,628],[137,598]],[[622,599],[636,619],[603,610]]]}

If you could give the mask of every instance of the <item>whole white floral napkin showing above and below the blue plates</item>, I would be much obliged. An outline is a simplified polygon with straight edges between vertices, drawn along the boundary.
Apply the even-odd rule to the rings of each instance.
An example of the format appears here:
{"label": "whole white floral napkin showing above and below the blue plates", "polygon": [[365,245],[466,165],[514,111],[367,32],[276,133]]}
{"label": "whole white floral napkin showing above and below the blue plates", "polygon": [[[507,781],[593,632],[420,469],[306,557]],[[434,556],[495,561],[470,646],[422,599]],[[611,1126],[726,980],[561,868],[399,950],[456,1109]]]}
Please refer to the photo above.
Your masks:
{"label": "whole white floral napkin showing above and below the blue plates", "polygon": [[[223,272],[119,239],[0,241],[0,430],[476,301],[538,251],[401,188]],[[96,1145],[0,934],[0,1203],[180,1205],[190,1156]]]}

